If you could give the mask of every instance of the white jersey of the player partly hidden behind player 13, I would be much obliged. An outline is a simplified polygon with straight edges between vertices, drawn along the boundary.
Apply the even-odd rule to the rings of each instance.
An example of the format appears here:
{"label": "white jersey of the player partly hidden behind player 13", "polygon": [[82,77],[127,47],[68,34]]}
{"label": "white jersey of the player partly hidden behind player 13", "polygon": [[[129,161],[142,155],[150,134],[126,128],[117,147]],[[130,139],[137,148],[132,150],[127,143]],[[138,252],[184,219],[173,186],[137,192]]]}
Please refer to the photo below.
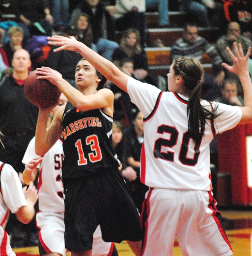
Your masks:
{"label": "white jersey of the player partly hidden behind player 13", "polygon": [[[23,164],[28,164],[34,157],[39,157],[35,153],[35,137],[27,147],[22,160]],[[45,154],[39,167],[38,191],[40,211],[64,212],[63,185],[61,181],[63,159],[62,141],[59,139]]]}

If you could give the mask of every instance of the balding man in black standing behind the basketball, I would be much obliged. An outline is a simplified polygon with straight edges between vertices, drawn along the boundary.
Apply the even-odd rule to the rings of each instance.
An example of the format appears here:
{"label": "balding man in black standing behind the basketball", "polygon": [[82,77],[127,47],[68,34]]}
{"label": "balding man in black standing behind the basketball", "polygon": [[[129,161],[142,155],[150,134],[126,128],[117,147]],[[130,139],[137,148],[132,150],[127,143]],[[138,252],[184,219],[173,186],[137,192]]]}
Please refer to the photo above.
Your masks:
{"label": "balding man in black standing behind the basketball", "polygon": [[[7,75],[1,81],[0,86],[2,141],[2,144],[0,144],[0,159],[4,163],[11,164],[22,181],[22,172],[24,171],[22,159],[28,143],[35,134],[38,107],[31,104],[24,93],[24,83],[31,66],[29,53],[24,49],[16,50],[12,65],[14,67],[12,74]],[[27,232],[29,246],[31,243],[36,245],[38,241],[35,220],[28,226],[23,226],[11,214],[6,230],[11,235],[11,245],[15,248],[24,245],[26,240],[25,231]]]}

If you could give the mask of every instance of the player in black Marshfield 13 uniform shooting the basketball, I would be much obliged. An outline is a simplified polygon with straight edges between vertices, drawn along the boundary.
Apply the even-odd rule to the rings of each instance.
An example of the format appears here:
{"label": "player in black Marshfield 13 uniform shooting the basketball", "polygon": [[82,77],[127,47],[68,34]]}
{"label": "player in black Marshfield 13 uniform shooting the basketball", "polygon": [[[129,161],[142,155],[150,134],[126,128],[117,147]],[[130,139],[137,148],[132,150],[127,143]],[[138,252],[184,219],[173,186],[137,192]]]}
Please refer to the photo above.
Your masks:
{"label": "player in black Marshfield 13 uniform shooting the basketball", "polygon": [[37,69],[68,98],[47,129],[51,108],[40,108],[36,154],[44,155],[63,135],[65,159],[62,180],[65,194],[65,246],[73,256],[91,256],[93,233],[100,224],[105,242],[127,240],[140,255],[142,231],[139,213],[118,169],[111,144],[114,94],[102,88],[102,75],[85,59],[75,71],[76,90],[58,71]]}

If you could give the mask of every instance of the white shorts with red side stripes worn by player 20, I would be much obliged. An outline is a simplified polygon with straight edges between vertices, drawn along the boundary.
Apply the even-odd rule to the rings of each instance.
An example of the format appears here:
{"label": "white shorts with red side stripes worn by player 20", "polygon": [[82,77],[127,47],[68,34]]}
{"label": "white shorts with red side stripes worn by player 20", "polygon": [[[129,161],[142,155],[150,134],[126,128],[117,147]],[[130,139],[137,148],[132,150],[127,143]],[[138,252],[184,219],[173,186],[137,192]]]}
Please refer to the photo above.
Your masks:
{"label": "white shorts with red side stripes worn by player 20", "polygon": [[141,256],[172,256],[175,238],[183,256],[233,255],[211,192],[155,188],[144,203]]}

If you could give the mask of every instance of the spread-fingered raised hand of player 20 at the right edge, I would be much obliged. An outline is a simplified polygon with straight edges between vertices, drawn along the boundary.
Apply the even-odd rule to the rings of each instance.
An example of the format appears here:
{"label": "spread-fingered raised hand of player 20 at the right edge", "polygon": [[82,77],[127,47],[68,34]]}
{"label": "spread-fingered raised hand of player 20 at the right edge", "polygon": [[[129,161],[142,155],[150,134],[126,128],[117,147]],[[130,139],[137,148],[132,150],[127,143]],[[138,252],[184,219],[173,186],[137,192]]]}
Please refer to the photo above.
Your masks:
{"label": "spread-fingered raised hand of player 20 at the right edge", "polygon": [[241,76],[248,72],[248,58],[250,56],[251,47],[248,48],[248,51],[244,56],[244,52],[240,43],[238,43],[237,45],[237,43],[234,42],[233,46],[235,54],[232,53],[229,47],[226,48],[229,56],[233,61],[233,65],[230,66],[226,63],[223,63],[222,66],[225,67],[225,69],[227,69],[228,71],[238,76]]}

